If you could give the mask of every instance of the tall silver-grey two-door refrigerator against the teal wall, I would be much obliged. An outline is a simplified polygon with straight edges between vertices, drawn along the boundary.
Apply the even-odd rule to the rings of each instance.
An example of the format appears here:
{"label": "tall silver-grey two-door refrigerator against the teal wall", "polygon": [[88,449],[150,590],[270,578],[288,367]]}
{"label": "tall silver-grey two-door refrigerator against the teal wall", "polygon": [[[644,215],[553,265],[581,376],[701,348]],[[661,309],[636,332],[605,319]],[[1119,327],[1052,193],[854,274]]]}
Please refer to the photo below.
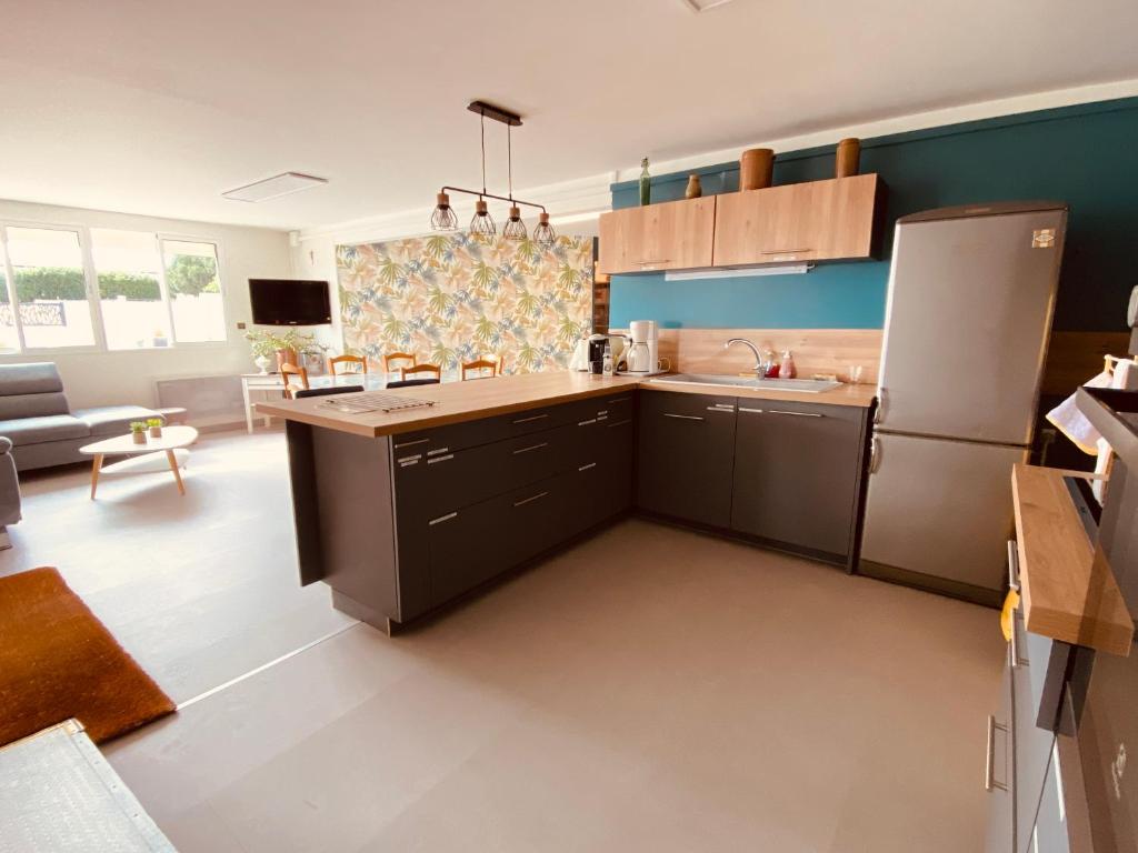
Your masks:
{"label": "tall silver-grey two-door refrigerator against the teal wall", "polygon": [[897,221],[859,571],[997,604],[1066,206]]}

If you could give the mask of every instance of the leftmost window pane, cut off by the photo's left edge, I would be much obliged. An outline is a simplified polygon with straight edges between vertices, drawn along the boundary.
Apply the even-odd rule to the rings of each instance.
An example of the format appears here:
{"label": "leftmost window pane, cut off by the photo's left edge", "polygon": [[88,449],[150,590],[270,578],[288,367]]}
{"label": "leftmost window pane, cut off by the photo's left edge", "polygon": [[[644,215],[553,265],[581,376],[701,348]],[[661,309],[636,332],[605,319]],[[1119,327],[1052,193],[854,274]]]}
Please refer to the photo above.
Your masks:
{"label": "leftmost window pane, cut off by the photo's left edge", "polygon": [[24,346],[92,346],[94,326],[79,232],[11,226],[6,231]]}

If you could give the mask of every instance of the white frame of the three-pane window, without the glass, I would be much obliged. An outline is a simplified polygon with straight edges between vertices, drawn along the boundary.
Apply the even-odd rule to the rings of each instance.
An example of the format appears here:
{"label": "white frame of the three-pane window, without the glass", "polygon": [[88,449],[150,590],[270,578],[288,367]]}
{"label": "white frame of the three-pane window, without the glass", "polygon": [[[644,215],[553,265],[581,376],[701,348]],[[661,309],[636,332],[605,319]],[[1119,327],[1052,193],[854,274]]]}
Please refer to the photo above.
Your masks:
{"label": "white frame of the three-pane window, without the glass", "polygon": [[[66,231],[74,233],[79,239],[80,257],[83,264],[83,290],[86,293],[88,307],[91,312],[91,324],[94,343],[84,343],[75,347],[30,347],[24,337],[24,323],[19,315],[19,297],[16,292],[16,276],[11,263],[11,254],[8,249],[8,229],[40,229],[44,231]],[[154,238],[155,248],[158,252],[158,289],[162,293],[163,303],[166,306],[166,316],[170,321],[170,346],[160,348],[129,347],[112,348],[107,346],[107,332],[102,322],[102,297],[99,292],[99,274],[94,267],[94,249],[91,231],[134,231],[141,234],[149,234]],[[217,262],[217,285],[221,291],[222,329],[223,340],[211,341],[187,341],[179,342],[178,331],[174,328],[174,309],[170,297],[170,289],[166,285],[166,258],[163,254],[163,241],[176,240],[180,242],[211,243],[214,247],[214,257]],[[225,276],[222,274],[224,266],[224,243],[216,235],[185,234],[174,231],[157,231],[149,229],[117,227],[115,225],[89,225],[84,223],[67,222],[41,222],[35,220],[0,218],[0,249],[3,255],[3,273],[8,288],[8,304],[13,306],[13,324],[16,329],[16,340],[19,343],[18,350],[0,351],[0,358],[18,358],[26,355],[83,355],[89,353],[152,353],[170,349],[218,349],[229,347],[233,341],[229,330],[229,305],[225,291]]]}

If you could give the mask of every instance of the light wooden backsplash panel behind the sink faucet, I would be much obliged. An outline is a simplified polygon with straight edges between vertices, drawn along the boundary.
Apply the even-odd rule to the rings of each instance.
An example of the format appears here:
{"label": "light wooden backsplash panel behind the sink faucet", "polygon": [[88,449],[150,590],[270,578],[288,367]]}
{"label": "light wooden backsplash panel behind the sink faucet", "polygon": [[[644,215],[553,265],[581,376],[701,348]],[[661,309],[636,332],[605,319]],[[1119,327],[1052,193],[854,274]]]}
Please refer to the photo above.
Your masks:
{"label": "light wooden backsplash panel behind the sink faucet", "polygon": [[[620,331],[627,333],[626,329]],[[736,343],[724,350],[724,341],[729,338],[747,338],[760,353],[770,347],[781,356],[790,349],[803,379],[815,373],[836,373],[846,380],[851,366],[861,365],[861,382],[877,382],[880,329],[661,329],[660,356],[670,359],[674,371],[683,373],[751,370],[754,359],[747,347]]]}

